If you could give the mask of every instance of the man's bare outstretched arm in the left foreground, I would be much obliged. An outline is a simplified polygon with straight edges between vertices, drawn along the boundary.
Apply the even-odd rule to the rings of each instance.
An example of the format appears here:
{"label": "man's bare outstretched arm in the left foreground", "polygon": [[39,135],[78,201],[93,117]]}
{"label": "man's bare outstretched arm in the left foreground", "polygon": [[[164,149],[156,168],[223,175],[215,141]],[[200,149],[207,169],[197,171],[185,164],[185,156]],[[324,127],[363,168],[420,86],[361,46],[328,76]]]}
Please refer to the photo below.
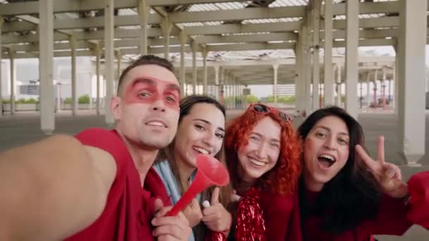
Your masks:
{"label": "man's bare outstretched arm in the left foreground", "polygon": [[0,154],[0,240],[61,240],[102,214],[113,157],[58,135]]}

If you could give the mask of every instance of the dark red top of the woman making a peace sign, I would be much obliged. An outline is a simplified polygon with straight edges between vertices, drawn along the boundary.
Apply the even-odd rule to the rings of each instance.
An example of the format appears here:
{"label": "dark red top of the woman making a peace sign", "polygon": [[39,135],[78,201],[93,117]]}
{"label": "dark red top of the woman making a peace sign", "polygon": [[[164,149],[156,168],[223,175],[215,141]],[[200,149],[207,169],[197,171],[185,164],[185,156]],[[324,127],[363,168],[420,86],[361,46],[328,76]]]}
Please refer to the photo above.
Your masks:
{"label": "dark red top of the woman making a peace sign", "polygon": [[[413,224],[429,229],[429,172],[413,175],[409,180],[409,192],[409,204],[385,195],[375,218],[337,236],[320,229],[321,217],[310,216],[303,224],[305,240],[368,241],[373,240],[372,235],[403,235]],[[308,192],[308,202],[311,204],[316,200],[317,193]],[[298,209],[299,206],[294,205],[294,211]]]}

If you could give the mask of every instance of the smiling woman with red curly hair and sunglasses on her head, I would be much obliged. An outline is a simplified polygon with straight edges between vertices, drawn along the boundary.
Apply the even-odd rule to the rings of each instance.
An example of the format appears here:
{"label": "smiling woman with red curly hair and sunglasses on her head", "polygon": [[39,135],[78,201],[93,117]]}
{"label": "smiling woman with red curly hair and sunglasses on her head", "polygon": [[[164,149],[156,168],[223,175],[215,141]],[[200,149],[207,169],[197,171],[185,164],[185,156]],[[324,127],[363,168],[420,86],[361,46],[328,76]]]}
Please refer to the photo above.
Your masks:
{"label": "smiling woman with red curly hair and sunglasses on her head", "polygon": [[291,122],[278,109],[251,104],[226,128],[226,163],[241,196],[231,240],[301,239],[299,213],[292,213],[301,150]]}

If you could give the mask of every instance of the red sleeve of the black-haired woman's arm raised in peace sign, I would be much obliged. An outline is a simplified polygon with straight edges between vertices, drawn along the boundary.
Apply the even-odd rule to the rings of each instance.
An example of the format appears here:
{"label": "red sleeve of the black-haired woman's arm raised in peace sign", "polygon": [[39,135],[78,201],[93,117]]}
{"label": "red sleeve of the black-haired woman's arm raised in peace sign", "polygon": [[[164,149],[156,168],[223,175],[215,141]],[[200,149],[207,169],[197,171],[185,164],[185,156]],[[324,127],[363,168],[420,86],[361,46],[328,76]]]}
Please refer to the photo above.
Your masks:
{"label": "red sleeve of the black-haired woman's arm raised in peace sign", "polygon": [[429,228],[429,172],[413,175],[409,180],[411,199],[408,205],[403,199],[385,195],[375,219],[359,225],[368,235],[403,235],[411,225]]}

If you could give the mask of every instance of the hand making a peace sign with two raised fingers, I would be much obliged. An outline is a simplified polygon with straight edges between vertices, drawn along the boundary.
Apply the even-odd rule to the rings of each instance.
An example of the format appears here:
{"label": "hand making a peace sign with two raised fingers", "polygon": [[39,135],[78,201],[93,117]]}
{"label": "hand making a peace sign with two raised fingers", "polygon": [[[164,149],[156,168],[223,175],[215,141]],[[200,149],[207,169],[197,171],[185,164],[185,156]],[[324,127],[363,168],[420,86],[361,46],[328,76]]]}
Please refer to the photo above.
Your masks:
{"label": "hand making a peace sign with two raised fingers", "polygon": [[372,159],[361,145],[356,145],[356,154],[361,157],[370,173],[385,194],[390,197],[402,198],[408,193],[408,185],[402,180],[398,166],[385,161],[385,137],[378,137],[377,160]]}

